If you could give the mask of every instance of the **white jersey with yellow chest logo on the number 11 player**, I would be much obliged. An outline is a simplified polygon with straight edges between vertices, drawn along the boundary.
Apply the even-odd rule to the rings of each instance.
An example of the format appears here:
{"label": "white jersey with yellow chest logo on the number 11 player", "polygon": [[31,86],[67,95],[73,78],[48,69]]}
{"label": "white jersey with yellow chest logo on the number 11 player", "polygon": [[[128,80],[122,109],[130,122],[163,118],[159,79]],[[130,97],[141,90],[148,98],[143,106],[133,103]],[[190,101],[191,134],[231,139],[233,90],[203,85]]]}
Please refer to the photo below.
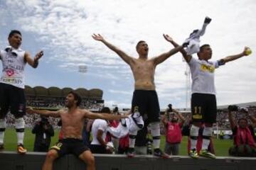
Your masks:
{"label": "white jersey with yellow chest logo on the number 11 player", "polygon": [[191,57],[188,65],[191,69],[192,94],[216,94],[214,83],[214,72],[219,67],[218,61],[206,62]]}

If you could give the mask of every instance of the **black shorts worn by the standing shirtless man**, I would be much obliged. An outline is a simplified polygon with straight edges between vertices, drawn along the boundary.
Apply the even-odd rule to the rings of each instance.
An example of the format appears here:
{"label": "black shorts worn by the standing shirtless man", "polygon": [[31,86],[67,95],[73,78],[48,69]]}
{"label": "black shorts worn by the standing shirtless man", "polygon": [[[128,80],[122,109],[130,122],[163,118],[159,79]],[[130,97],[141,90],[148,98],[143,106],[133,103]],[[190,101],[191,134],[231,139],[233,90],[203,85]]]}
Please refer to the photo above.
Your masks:
{"label": "black shorts worn by the standing shirtless man", "polygon": [[156,91],[135,90],[132,97],[132,112],[136,108],[143,120],[148,120],[149,123],[160,121],[159,99]]}

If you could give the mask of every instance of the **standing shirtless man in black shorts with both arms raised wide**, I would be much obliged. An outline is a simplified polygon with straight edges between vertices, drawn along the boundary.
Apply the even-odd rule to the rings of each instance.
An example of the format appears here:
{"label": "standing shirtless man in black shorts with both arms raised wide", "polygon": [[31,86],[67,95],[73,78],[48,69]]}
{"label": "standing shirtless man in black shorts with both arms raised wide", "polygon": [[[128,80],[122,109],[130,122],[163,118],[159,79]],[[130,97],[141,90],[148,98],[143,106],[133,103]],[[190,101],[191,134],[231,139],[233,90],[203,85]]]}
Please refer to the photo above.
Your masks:
{"label": "standing shirtless man in black shorts with both arms raised wide", "polygon": [[[149,47],[145,41],[141,40],[136,45],[139,58],[130,57],[125,52],[107,42],[102,35],[94,34],[92,38],[103,42],[110,50],[119,55],[129,67],[134,75],[134,94],[132,98],[132,113],[139,111],[144,120],[148,119],[151,127],[151,135],[154,141],[154,155],[157,157],[168,157],[159,149],[160,147],[160,108],[159,100],[156,94],[156,86],[154,84],[155,69],[158,64],[164,62],[171,55],[176,54],[183,47],[178,46],[168,52],[157,57],[148,59]],[[134,157],[134,144],[137,132],[129,134],[129,150],[128,157]]]}

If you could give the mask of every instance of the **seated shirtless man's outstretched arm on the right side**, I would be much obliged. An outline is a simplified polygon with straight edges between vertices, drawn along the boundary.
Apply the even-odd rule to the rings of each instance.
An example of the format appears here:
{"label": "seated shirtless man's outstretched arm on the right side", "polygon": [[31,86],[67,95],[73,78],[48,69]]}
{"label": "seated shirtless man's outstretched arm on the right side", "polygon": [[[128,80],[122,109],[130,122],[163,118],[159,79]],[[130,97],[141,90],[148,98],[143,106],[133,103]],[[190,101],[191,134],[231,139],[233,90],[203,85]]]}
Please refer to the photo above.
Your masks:
{"label": "seated shirtless man's outstretched arm on the right side", "polygon": [[127,118],[127,115],[112,115],[109,113],[92,113],[90,111],[85,111],[85,117],[90,119],[105,119],[105,120],[119,120],[121,118]]}

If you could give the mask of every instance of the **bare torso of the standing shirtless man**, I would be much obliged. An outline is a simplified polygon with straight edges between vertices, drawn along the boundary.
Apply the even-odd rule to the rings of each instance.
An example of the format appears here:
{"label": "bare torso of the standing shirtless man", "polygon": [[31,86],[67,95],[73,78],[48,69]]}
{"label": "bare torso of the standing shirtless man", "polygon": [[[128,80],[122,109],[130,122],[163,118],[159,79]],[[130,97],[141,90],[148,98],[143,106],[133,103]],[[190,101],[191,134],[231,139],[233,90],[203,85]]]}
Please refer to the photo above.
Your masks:
{"label": "bare torso of the standing shirtless man", "polygon": [[133,59],[130,64],[134,75],[134,88],[142,90],[155,90],[154,74],[156,64],[153,60]]}

